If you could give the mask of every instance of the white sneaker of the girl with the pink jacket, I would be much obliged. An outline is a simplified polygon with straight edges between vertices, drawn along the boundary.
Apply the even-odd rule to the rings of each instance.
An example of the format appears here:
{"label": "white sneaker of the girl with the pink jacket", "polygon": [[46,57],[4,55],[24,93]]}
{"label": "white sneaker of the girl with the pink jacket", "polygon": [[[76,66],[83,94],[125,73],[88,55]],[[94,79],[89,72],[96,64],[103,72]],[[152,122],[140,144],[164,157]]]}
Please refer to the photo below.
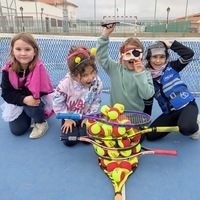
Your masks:
{"label": "white sneaker of the girl with the pink jacket", "polygon": [[33,130],[31,132],[31,134],[29,135],[29,138],[42,137],[46,133],[48,128],[49,128],[49,126],[48,126],[47,122],[34,124]]}

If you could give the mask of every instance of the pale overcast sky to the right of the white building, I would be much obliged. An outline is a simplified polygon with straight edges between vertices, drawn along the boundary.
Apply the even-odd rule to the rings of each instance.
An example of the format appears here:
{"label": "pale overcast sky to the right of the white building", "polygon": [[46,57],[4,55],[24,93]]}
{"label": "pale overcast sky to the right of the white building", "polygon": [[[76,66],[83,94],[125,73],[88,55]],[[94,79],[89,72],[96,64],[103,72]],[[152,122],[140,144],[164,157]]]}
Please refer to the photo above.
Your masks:
{"label": "pale overcast sky to the right of the white building", "polygon": [[[169,19],[200,13],[199,0],[70,0],[78,6],[77,19],[103,19],[103,16],[137,16],[138,19]],[[95,6],[96,5],[96,6]],[[126,6],[124,6],[126,5]],[[156,9],[155,9],[156,8]]]}

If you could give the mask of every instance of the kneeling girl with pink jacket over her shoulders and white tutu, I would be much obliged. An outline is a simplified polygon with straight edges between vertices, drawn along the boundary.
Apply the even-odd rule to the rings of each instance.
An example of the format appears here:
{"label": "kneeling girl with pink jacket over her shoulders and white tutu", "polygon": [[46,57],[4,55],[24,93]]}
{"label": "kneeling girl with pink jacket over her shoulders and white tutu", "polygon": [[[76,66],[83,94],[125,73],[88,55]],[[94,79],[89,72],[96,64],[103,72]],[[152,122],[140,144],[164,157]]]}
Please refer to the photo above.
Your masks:
{"label": "kneeling girl with pink jacket over her shoulders and white tutu", "polygon": [[9,122],[12,134],[27,132],[33,121],[30,138],[39,138],[48,130],[46,118],[52,113],[53,87],[42,61],[39,47],[30,33],[12,38],[8,61],[2,68],[2,117]]}

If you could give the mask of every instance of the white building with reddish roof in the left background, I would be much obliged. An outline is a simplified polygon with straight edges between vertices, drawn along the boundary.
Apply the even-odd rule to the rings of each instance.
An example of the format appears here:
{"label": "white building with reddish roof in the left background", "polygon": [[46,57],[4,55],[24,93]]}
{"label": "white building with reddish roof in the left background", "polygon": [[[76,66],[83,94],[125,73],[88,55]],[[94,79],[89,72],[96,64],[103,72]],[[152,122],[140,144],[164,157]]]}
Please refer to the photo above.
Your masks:
{"label": "white building with reddish roof in the left background", "polygon": [[77,7],[67,0],[1,0],[0,32],[68,32]]}

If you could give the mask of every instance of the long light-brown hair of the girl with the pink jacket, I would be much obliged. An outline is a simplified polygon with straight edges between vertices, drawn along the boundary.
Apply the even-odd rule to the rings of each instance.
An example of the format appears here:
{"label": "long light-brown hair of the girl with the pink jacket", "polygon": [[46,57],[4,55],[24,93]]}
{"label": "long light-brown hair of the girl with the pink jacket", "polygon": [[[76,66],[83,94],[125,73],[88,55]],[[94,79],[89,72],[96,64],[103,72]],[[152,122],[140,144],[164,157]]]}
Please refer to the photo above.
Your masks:
{"label": "long light-brown hair of the girl with the pink jacket", "polygon": [[36,65],[38,58],[39,58],[39,46],[38,46],[36,40],[34,39],[34,37],[28,32],[18,33],[11,40],[11,48],[10,48],[8,57],[10,56],[12,58],[12,61],[11,61],[12,70],[14,72],[18,72],[20,70],[20,63],[16,60],[16,58],[13,54],[13,47],[17,40],[22,40],[22,41],[30,44],[35,51],[35,56],[34,56],[33,60],[29,63],[29,70],[32,71]]}

